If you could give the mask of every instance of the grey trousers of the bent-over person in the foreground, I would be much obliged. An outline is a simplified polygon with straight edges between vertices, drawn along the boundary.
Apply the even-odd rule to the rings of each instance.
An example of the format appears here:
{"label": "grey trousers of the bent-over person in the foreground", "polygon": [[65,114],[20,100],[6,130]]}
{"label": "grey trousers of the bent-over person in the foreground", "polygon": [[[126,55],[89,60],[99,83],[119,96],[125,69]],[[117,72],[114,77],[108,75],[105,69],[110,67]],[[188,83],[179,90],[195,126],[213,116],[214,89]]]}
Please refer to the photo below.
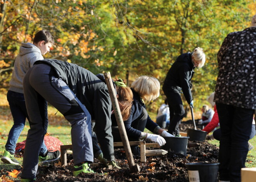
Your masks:
{"label": "grey trousers of the bent-over person in the foreground", "polygon": [[93,162],[91,116],[65,82],[50,76],[50,66],[33,66],[23,79],[23,90],[30,119],[21,177],[34,179],[38,155],[46,133],[45,102],[52,104],[71,123],[74,164]]}

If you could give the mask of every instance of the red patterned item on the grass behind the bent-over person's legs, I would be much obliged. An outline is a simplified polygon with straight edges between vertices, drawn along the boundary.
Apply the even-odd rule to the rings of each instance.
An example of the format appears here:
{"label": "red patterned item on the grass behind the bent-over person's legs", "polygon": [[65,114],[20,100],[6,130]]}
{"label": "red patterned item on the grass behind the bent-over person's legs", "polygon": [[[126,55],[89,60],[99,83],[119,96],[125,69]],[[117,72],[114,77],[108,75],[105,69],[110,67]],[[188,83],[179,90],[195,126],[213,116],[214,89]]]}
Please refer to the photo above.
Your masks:
{"label": "red patterned item on the grass behind the bent-over person's legs", "polygon": [[[48,150],[50,150],[50,151],[56,151],[56,150],[61,151],[61,145],[63,145],[63,143],[58,138],[55,138],[54,136],[45,135],[43,140],[45,141],[45,145],[46,145]],[[17,143],[16,148],[15,148],[15,153],[20,152],[21,150],[24,150],[25,144],[26,144],[26,140]]]}

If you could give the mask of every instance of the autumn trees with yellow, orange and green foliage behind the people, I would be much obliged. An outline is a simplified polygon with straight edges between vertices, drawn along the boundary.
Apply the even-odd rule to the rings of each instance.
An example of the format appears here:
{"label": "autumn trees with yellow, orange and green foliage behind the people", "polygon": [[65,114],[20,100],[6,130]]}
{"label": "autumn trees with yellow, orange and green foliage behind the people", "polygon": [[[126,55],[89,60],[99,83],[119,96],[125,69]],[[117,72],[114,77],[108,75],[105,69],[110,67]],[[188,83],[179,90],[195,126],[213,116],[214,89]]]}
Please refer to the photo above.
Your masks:
{"label": "autumn trees with yellow, orange and green foliage behind the people", "polygon": [[[255,13],[255,0],[0,0],[0,88],[8,88],[21,43],[33,43],[35,33],[46,29],[55,44],[44,58],[94,74],[110,71],[129,86],[140,75],[163,85],[178,55],[203,48],[206,64],[192,79],[199,110],[215,89],[221,43],[251,26]],[[147,107],[156,111],[164,99],[161,90]]]}

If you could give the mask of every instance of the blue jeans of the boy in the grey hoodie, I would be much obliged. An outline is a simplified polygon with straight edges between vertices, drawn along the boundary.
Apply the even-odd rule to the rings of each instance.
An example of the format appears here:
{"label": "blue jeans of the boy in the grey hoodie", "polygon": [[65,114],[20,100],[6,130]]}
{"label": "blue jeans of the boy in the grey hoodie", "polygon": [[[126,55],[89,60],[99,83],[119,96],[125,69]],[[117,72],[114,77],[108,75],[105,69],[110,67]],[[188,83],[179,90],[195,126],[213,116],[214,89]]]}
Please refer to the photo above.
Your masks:
{"label": "blue jeans of the boy in the grey hoodie", "polygon": [[[11,153],[15,153],[16,143],[19,139],[21,131],[24,129],[26,118],[28,118],[28,112],[26,109],[24,94],[8,90],[7,100],[9,102],[14,124],[10,129],[8,139],[5,145],[5,150]],[[40,155],[43,155],[46,152],[47,147],[43,142]]]}

